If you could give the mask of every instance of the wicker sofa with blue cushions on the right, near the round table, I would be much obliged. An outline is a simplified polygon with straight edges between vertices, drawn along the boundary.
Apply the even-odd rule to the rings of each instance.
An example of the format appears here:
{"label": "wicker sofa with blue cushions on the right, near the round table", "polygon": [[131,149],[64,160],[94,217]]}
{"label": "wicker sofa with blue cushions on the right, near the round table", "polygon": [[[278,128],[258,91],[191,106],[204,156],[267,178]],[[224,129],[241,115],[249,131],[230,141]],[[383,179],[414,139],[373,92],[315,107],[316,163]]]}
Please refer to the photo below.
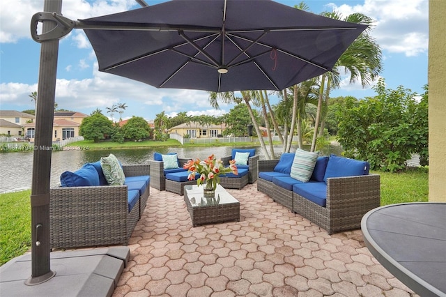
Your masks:
{"label": "wicker sofa with blue cushions on the right, near the round table", "polygon": [[[360,228],[362,216],[380,206],[380,176],[368,173],[367,162],[335,155],[319,157],[309,182],[302,183],[289,174],[293,155],[284,153],[280,160],[259,160],[257,190],[328,234]],[[355,174],[352,166],[360,174]]]}

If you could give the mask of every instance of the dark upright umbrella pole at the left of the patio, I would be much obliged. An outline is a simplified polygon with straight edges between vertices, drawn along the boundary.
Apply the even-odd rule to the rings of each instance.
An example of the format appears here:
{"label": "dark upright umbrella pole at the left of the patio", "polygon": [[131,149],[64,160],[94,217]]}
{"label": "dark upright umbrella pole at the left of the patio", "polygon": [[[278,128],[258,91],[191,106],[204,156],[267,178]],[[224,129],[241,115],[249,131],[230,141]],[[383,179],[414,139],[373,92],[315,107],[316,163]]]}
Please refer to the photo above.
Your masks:
{"label": "dark upright umbrella pole at the left of the patio", "polygon": [[[62,0],[45,0],[44,11],[60,15],[61,10]],[[42,26],[45,33],[54,28],[54,23],[43,22]],[[31,277],[25,282],[28,285],[46,282],[56,274],[49,264],[49,181],[58,52],[59,39],[42,42],[31,184]]]}

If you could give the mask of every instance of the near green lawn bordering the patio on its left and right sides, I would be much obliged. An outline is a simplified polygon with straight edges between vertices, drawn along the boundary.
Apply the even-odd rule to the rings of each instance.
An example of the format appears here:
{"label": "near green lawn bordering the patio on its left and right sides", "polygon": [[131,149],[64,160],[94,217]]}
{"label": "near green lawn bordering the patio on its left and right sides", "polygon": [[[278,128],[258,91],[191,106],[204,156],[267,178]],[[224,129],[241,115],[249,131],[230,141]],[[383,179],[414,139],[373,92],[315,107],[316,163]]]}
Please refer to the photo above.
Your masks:
{"label": "near green lawn bordering the patio on its left and right sides", "polygon": [[[381,205],[428,201],[428,169],[372,173],[380,175]],[[30,195],[30,190],[0,194],[0,265],[31,246]]]}

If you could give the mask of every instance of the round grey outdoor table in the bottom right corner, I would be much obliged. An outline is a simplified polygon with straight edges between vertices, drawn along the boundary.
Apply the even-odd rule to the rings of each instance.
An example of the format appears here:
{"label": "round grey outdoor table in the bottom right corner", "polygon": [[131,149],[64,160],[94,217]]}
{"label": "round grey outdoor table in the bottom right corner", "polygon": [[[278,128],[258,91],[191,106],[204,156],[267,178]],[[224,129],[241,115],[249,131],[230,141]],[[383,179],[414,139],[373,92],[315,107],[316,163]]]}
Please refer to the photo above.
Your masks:
{"label": "round grey outdoor table in the bottom right corner", "polygon": [[446,203],[393,204],[362,218],[364,242],[420,296],[446,296]]}

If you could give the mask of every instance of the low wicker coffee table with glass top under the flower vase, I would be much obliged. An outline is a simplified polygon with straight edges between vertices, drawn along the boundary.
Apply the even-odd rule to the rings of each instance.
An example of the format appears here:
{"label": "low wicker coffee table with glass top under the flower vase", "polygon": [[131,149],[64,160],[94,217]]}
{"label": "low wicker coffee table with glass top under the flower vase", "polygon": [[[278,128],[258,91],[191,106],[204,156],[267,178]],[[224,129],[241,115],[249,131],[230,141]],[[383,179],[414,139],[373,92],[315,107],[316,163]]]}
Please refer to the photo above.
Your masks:
{"label": "low wicker coffee table with glass top under the flower vase", "polygon": [[221,185],[217,185],[215,199],[203,198],[202,185],[185,185],[184,200],[194,227],[240,220],[240,202]]}

